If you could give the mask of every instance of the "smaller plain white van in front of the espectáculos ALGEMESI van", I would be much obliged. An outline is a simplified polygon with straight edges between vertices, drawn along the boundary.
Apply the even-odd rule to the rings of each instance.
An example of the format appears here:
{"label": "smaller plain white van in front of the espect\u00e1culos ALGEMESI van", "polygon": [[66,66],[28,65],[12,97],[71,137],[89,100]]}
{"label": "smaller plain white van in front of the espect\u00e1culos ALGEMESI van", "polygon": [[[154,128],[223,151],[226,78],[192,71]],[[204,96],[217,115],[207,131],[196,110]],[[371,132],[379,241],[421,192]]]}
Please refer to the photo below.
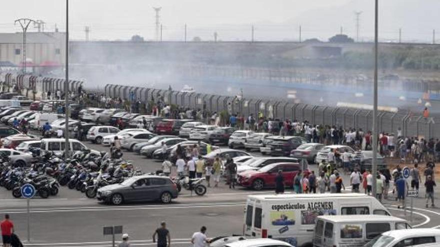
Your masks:
{"label": "smaller plain white van in front of the espect\u00e1culos ALGEMESI van", "polygon": [[361,247],[391,230],[411,229],[403,219],[393,216],[319,216],[313,235],[314,247]]}

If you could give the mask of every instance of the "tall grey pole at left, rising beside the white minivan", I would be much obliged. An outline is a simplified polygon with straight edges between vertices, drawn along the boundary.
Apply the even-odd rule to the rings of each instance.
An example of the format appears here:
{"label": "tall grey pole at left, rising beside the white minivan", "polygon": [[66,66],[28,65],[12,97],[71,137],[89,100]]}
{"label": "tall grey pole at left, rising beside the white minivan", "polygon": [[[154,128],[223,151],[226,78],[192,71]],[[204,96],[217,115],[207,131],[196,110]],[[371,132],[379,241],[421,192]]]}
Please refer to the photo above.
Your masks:
{"label": "tall grey pole at left, rising beside the white minivan", "polygon": [[69,118],[69,104],[68,104],[68,0],[65,0],[65,81],[64,81],[64,109],[65,109],[65,129],[64,129],[64,158],[68,157],[69,152],[69,131],[68,131],[68,118]]}

